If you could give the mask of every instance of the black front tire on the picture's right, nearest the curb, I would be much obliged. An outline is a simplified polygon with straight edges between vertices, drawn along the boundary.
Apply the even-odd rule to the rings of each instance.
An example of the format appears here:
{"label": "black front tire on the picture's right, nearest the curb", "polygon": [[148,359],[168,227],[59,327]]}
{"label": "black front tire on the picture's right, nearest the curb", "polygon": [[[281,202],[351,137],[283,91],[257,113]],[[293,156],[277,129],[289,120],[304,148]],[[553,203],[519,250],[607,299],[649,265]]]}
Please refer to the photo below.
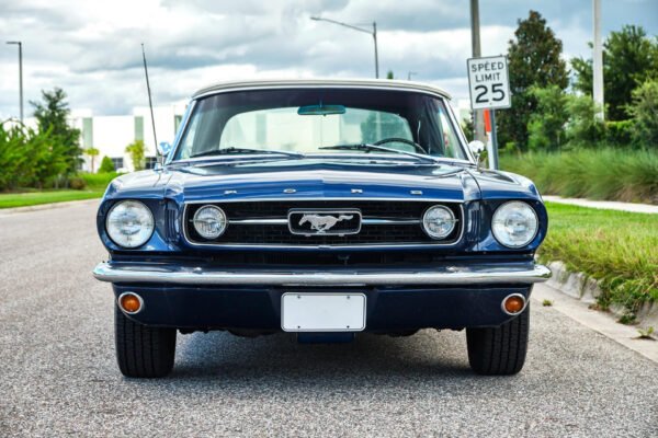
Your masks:
{"label": "black front tire on the picture's right, nearest the curb", "polygon": [[521,371],[529,331],[530,307],[498,327],[466,328],[470,368],[485,376],[510,376]]}

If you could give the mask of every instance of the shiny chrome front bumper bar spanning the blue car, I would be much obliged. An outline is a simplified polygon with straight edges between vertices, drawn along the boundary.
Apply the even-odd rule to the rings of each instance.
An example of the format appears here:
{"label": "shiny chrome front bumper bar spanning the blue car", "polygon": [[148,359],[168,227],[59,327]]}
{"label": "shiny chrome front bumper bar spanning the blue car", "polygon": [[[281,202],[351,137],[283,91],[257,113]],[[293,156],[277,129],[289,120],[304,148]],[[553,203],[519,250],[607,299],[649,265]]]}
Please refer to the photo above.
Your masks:
{"label": "shiny chrome front bumper bar spanning the blue car", "polygon": [[531,285],[546,281],[551,270],[543,265],[446,266],[432,270],[220,270],[158,264],[100,263],[93,276],[110,283],[159,283],[173,285],[268,285],[268,286],[399,286],[399,285]]}

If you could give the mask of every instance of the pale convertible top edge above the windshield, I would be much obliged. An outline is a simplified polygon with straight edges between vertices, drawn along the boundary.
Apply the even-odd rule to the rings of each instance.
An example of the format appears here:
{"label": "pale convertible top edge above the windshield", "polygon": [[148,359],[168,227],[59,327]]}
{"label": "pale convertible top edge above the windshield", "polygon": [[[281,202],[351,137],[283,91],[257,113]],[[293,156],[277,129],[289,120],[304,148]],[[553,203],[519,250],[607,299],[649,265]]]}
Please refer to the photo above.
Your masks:
{"label": "pale convertible top edge above the windshield", "polygon": [[291,88],[366,88],[366,89],[388,89],[420,91],[426,93],[439,94],[445,99],[451,95],[444,90],[421,82],[397,81],[389,79],[260,79],[226,81],[204,87],[196,91],[192,99],[220,93],[224,91],[245,90],[245,89],[291,89]]}

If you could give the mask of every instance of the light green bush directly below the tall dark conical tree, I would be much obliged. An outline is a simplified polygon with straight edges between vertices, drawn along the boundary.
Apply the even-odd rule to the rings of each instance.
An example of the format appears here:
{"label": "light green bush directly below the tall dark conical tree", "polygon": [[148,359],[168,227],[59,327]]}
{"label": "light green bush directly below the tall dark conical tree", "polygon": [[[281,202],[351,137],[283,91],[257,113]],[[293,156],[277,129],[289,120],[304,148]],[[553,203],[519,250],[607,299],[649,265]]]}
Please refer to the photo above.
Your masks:
{"label": "light green bush directly below the tall dark conical tree", "polygon": [[529,89],[529,94],[537,102],[536,111],[532,113],[527,124],[529,149],[560,149],[566,141],[564,127],[568,119],[567,95],[557,85],[533,85]]}

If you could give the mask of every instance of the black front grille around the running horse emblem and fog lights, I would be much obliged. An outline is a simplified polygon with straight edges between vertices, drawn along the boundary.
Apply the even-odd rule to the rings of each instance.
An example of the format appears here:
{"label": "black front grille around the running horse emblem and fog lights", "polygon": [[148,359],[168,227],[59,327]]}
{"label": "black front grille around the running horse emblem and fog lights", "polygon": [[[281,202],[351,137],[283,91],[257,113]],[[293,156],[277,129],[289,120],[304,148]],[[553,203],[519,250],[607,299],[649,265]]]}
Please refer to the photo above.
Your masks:
{"label": "black front grille around the running horse emblem and fog lights", "polygon": [[[422,230],[423,212],[431,206],[441,204],[449,207],[457,223],[455,230],[442,240],[428,237]],[[185,208],[185,237],[195,244],[206,245],[383,245],[383,244],[440,244],[456,243],[464,227],[463,212],[457,203],[435,201],[388,201],[388,200],[291,200],[213,203],[222,208],[228,218],[224,234],[215,240],[203,239],[191,222],[194,212],[207,204],[190,204]],[[359,210],[362,226],[358,233],[344,235],[294,234],[288,229],[287,217],[291,210],[344,211]],[[270,223],[240,223],[248,220],[269,220]],[[272,223],[274,221],[274,223]],[[385,223],[381,223],[385,222]],[[398,223],[399,222],[399,223]]]}

